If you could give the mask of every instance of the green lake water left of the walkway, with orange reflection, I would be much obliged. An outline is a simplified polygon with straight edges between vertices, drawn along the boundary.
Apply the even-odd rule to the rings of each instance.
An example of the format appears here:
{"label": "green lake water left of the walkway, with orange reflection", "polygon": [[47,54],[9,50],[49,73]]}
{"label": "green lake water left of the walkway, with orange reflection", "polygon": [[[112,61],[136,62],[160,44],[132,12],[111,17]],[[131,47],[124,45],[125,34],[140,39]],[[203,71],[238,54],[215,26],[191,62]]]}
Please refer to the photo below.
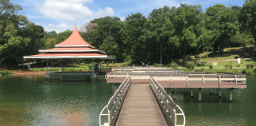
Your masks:
{"label": "green lake water left of the walkway, with orange reflection", "polygon": [[0,80],[0,125],[99,125],[99,113],[114,94],[114,86],[99,76],[91,82],[44,75]]}

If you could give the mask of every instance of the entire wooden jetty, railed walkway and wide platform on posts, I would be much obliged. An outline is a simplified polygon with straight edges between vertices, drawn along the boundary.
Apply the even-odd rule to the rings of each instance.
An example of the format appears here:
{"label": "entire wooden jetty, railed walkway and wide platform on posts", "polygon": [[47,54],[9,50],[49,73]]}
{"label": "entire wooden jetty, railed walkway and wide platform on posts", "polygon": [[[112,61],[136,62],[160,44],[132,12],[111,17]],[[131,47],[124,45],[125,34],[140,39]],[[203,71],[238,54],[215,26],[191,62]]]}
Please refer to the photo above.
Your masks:
{"label": "entire wooden jetty, railed walkway and wide platform on posts", "polygon": [[[198,101],[201,102],[201,91],[228,89],[229,101],[232,102],[232,91],[247,88],[246,75],[222,74],[219,72],[183,72],[179,69],[161,67],[122,67],[107,72],[107,83],[114,83],[115,94],[99,117],[100,125],[185,125],[186,118],[180,108],[166,93],[175,88],[198,89]],[[121,83],[121,84],[120,84]],[[107,122],[102,117],[107,116]],[[177,121],[177,116],[182,119]]]}

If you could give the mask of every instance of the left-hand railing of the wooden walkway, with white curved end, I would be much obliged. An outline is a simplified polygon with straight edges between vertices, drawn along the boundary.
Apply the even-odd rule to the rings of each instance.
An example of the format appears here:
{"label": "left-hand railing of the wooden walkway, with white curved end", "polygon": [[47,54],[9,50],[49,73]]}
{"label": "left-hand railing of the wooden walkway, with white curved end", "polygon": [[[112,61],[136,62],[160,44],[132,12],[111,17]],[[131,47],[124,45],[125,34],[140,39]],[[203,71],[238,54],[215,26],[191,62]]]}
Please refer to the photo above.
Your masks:
{"label": "left-hand railing of the wooden walkway, with white curved end", "polygon": [[[109,102],[107,103],[107,106],[104,107],[104,109],[107,108],[107,114],[103,114],[104,109],[102,109],[99,117],[99,123],[101,125],[101,116],[108,116],[108,122],[105,123],[110,126],[114,126],[115,122],[117,120],[117,117],[119,116],[122,103],[124,102],[124,99],[126,98],[127,92],[130,89],[130,76],[126,76],[126,80],[121,83],[119,86],[119,89],[115,91],[115,94],[110,98]],[[104,125],[105,125],[104,124]]]}

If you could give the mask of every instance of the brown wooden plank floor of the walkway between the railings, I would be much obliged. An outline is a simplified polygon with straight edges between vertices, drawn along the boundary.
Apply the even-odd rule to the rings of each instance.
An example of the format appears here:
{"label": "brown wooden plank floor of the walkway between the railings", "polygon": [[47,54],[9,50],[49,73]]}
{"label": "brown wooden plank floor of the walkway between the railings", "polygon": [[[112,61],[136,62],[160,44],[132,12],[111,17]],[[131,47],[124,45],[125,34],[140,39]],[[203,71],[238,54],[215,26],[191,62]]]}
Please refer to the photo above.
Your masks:
{"label": "brown wooden plank floor of the walkway between the railings", "polygon": [[131,83],[115,125],[168,125],[149,83]]}

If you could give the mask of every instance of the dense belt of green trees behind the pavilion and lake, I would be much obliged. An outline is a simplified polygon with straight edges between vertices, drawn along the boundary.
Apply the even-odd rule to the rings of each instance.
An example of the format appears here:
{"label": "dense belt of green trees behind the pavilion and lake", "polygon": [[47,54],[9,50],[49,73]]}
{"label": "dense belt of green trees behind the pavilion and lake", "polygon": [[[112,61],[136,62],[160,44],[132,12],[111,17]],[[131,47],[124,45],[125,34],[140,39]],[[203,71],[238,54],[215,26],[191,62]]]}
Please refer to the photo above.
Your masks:
{"label": "dense belt of green trees behind the pavilion and lake", "polygon": [[[67,39],[72,31],[44,31],[43,27],[17,14],[21,6],[0,1],[0,67],[18,65],[23,56],[39,54]],[[102,17],[78,30],[85,41],[115,57],[118,62],[170,64],[177,58],[224,48],[255,46],[256,0],[243,6],[180,4],[153,9],[148,16],[131,13],[126,20]],[[73,29],[71,29],[73,30]]]}

